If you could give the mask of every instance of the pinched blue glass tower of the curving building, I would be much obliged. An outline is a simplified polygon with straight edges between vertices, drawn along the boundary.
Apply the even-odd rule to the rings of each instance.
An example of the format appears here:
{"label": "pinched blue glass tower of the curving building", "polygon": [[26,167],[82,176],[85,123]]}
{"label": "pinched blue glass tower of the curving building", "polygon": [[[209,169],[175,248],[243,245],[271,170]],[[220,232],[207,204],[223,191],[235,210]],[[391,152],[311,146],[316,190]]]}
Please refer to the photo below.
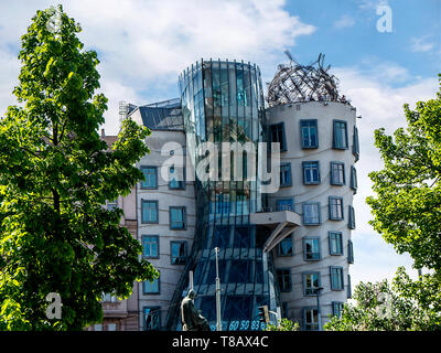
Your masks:
{"label": "pinched blue glass tower of the curving building", "polygon": [[[256,65],[203,61],[185,69],[179,83],[187,153],[194,168],[205,158],[205,151],[198,150],[204,142],[213,142],[219,152],[223,142],[251,142],[257,156],[257,143],[265,141],[266,124],[260,71]],[[261,250],[268,234],[249,223],[249,214],[261,211],[262,196],[257,171],[251,170],[254,178],[248,174],[247,156],[244,151],[229,156],[230,165],[235,159],[241,163],[243,180],[223,178],[228,165],[223,164],[220,153],[212,178],[200,180],[196,175],[195,180],[196,234],[175,303],[187,290],[184,277],[193,270],[195,304],[212,330],[216,325],[215,247],[219,248],[224,331],[260,330],[257,308],[270,306],[270,298],[275,297],[271,260]],[[179,327],[179,315],[169,319],[174,321],[169,320],[170,329]]]}

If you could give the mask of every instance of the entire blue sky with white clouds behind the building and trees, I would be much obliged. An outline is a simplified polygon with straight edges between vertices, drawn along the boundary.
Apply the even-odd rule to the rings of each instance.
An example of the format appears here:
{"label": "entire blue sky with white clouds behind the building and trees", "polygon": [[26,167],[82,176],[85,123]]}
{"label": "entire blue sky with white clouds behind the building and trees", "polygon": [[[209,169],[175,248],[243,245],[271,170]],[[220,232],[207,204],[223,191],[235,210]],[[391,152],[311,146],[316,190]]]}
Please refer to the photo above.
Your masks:
{"label": "entire blue sky with white clouds behind the building and trees", "polygon": [[[374,130],[405,126],[402,105],[438,90],[441,60],[439,0],[20,0],[0,2],[0,111],[14,104],[20,36],[37,9],[63,3],[83,26],[80,39],[98,52],[101,90],[109,98],[104,128],[118,128],[118,101],[147,104],[178,96],[178,75],[201,57],[257,63],[263,82],[283,50],[308,64],[325,53],[341,92],[357,107],[359,191],[354,199],[353,285],[391,278],[412,260],[398,256],[368,225],[367,176],[381,168]],[[392,30],[378,32],[378,6],[391,9]],[[416,275],[416,270],[411,270]]]}

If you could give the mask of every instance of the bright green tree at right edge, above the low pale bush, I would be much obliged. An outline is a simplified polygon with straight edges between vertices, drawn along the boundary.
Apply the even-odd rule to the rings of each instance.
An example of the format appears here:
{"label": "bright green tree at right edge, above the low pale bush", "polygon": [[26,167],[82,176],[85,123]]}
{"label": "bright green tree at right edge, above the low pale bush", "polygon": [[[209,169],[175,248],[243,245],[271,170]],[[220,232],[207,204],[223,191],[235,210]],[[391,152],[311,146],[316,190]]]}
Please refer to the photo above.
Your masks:
{"label": "bright green tree at right edge, above the low pale bush", "polygon": [[[441,75],[440,75],[441,77]],[[441,82],[441,81],[440,81]],[[441,269],[441,90],[435,99],[405,105],[408,127],[375,131],[384,169],[369,173],[370,224],[417,268]]]}

